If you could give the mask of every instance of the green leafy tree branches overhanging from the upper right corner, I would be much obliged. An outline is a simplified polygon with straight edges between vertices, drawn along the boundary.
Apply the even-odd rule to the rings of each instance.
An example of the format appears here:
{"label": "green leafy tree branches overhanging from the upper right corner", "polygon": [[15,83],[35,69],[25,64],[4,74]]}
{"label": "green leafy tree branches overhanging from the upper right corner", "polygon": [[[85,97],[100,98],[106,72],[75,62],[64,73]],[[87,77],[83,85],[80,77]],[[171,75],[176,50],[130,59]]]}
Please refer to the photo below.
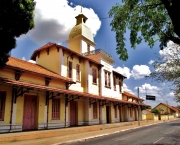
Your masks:
{"label": "green leafy tree branches overhanging from the upper right corner", "polygon": [[163,49],[169,40],[180,44],[180,13],[178,0],[122,0],[109,11],[112,31],[116,32],[116,52],[127,60],[125,33],[130,30],[133,49],[142,40],[152,48],[159,41]]}

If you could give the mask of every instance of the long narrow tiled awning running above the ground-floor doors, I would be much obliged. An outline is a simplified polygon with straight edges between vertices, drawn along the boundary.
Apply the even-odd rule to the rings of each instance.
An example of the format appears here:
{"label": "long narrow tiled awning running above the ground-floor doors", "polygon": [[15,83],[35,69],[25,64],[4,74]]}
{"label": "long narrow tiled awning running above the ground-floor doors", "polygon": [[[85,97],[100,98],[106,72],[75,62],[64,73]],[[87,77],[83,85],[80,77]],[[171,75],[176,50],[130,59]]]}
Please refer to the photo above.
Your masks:
{"label": "long narrow tiled awning running above the ground-floor doors", "polygon": [[[26,88],[35,88],[35,89],[41,89],[41,90],[46,90],[46,91],[52,91],[56,93],[64,93],[64,94],[70,94],[70,95],[77,95],[79,97],[87,97],[87,98],[93,98],[93,99],[98,99],[98,100],[105,100],[105,101],[111,101],[111,102],[118,102],[118,103],[123,103],[123,104],[132,104],[132,105],[138,105],[135,102],[128,102],[128,101],[123,101],[115,98],[108,98],[104,96],[98,96],[90,93],[84,93],[84,92],[78,92],[78,91],[73,91],[73,90],[65,90],[65,89],[60,89],[60,88],[55,88],[55,87],[49,87],[49,86],[44,86],[40,84],[33,84],[29,82],[24,82],[24,81],[16,81],[16,80],[11,80],[9,78],[2,78],[0,77],[0,82],[1,83],[6,83],[6,84],[11,84],[14,86],[21,86],[21,87],[26,87]],[[140,104],[141,106],[148,106],[145,104]]]}

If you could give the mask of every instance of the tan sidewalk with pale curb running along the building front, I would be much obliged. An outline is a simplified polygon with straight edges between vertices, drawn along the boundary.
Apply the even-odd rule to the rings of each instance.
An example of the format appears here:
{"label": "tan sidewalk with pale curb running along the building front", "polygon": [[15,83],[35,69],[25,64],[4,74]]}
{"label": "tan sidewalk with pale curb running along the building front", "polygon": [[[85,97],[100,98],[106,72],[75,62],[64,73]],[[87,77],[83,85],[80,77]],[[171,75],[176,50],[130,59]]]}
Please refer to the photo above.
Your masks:
{"label": "tan sidewalk with pale curb running along the building front", "polygon": [[[176,119],[173,119],[176,120]],[[172,120],[168,120],[172,121]],[[123,132],[165,121],[137,121],[102,124],[93,126],[71,127],[55,130],[0,134],[0,144],[4,145],[59,145],[74,141],[83,141],[95,137]]]}

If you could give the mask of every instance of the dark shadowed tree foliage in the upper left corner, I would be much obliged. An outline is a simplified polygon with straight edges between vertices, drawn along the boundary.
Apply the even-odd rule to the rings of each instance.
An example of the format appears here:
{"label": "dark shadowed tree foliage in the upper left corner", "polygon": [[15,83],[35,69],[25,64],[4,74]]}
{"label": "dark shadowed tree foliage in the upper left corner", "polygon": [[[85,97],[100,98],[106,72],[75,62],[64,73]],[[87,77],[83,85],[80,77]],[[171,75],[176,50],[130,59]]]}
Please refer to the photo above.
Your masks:
{"label": "dark shadowed tree foliage in the upper left corner", "polygon": [[16,47],[16,38],[34,27],[34,0],[1,0],[0,4],[0,67],[8,61]]}

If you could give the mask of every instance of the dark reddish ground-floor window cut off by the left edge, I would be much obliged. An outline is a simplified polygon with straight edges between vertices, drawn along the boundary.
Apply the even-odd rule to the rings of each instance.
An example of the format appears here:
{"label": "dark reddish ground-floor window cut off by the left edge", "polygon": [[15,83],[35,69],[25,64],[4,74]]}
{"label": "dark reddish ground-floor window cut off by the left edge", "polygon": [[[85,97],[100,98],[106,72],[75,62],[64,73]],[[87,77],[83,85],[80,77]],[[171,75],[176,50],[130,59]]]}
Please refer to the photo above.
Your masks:
{"label": "dark reddish ground-floor window cut off by the left edge", "polygon": [[0,120],[4,120],[4,109],[5,109],[6,93],[0,92]]}

